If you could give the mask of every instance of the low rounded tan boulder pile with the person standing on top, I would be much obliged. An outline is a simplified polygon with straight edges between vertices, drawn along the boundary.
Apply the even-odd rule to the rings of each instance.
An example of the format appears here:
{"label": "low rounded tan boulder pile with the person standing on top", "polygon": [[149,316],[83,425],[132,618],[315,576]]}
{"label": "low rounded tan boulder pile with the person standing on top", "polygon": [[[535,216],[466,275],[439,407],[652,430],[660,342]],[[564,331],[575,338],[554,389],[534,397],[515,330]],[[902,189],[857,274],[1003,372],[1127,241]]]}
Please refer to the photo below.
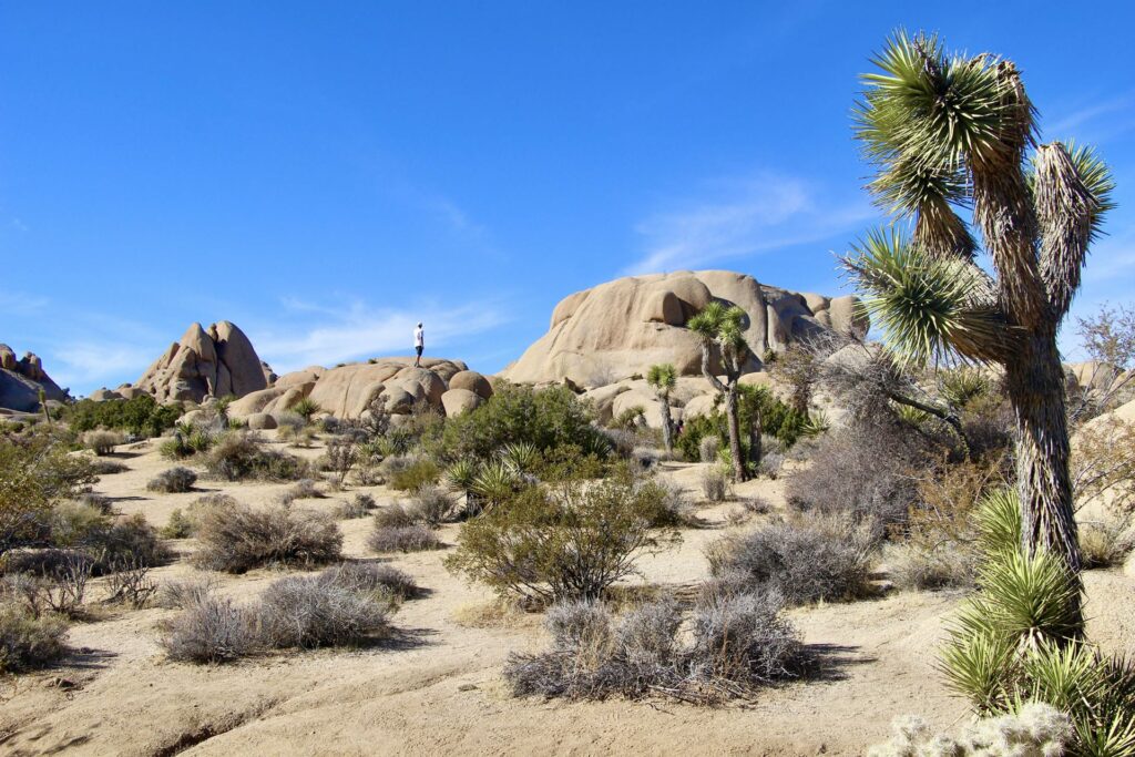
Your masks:
{"label": "low rounded tan boulder pile with the person standing on top", "polygon": [[[377,358],[367,363],[338,368],[313,365],[286,373],[268,388],[252,392],[228,407],[229,415],[279,415],[309,397],[336,418],[359,418],[371,401],[385,395],[386,407],[405,415],[418,403],[446,414],[463,412],[491,396],[489,381],[470,371],[460,360],[423,358],[421,368],[413,358]],[[264,422],[257,418],[257,422]]]}

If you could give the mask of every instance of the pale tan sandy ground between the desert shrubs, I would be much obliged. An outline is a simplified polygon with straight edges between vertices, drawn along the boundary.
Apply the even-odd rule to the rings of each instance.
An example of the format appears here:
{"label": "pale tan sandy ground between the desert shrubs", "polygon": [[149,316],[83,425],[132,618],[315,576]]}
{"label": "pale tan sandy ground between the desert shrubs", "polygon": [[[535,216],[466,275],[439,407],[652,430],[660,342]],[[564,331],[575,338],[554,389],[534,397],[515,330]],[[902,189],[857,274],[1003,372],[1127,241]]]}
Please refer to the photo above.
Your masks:
{"label": "pale tan sandy ground between the desert shrubs", "polygon": [[[131,470],[107,476],[96,490],[123,513],[165,524],[201,491],[154,495],[145,482],[168,466],[152,447],[124,451]],[[300,451],[314,456],[319,449]],[[691,490],[699,466],[666,464],[665,476]],[[286,485],[202,480],[250,504]],[[745,485],[743,496],[783,506],[779,481]],[[381,487],[303,501],[334,507],[355,490],[380,504]],[[703,548],[731,528],[735,504],[701,511],[707,527],[644,560],[645,580],[686,587],[705,578]],[[364,547],[370,519],[340,521],[347,556],[373,560]],[[748,527],[740,527],[748,528]],[[446,527],[453,542],[457,527]],[[192,542],[174,542],[183,554]],[[935,645],[956,592],[891,592],[885,598],[792,611],[805,640],[823,659],[821,675],[767,689],[749,701],[695,707],[669,700],[544,701],[508,696],[501,675],[510,651],[543,642],[540,619],[478,621],[491,596],[451,575],[446,552],[389,562],[428,589],[395,617],[393,644],[364,649],[287,653],[225,666],[171,663],[159,624],[175,611],[107,612],[74,626],[75,653],[60,667],[0,682],[0,752],[10,755],[375,755],[375,754],[746,754],[858,755],[886,738],[891,720],[918,713],[933,725],[965,720],[936,674]],[[169,580],[197,573],[184,560],[154,571]],[[252,597],[281,573],[215,574],[220,590]],[[1087,574],[1091,634],[1108,649],[1135,654],[1135,581],[1119,572]]]}

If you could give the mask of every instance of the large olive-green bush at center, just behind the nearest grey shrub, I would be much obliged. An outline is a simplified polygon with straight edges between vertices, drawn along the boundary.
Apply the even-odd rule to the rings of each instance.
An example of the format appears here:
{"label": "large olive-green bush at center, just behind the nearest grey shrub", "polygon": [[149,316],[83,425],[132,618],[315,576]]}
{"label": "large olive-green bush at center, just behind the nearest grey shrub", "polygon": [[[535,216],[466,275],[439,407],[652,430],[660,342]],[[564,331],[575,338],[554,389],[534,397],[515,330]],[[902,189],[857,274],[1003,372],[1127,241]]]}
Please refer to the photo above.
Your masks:
{"label": "large olive-green bush at center, just behind the nearest grey shrub", "polygon": [[529,487],[466,522],[446,566],[502,596],[597,599],[637,574],[637,557],[679,540],[676,532],[651,532],[651,514],[621,478]]}

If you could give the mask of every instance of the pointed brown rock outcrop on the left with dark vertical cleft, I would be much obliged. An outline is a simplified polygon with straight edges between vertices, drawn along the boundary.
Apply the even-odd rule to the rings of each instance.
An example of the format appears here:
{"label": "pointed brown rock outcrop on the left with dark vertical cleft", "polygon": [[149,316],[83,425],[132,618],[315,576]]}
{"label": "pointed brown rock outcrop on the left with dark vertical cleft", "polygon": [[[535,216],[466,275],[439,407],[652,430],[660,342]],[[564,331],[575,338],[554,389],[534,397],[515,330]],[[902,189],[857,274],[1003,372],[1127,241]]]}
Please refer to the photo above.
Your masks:
{"label": "pointed brown rock outcrop on the left with dark vertical cleft", "polygon": [[169,345],[146,369],[134,388],[148,392],[158,402],[243,397],[266,388],[270,373],[249,337],[235,325],[220,321],[205,330],[194,323],[180,342]]}

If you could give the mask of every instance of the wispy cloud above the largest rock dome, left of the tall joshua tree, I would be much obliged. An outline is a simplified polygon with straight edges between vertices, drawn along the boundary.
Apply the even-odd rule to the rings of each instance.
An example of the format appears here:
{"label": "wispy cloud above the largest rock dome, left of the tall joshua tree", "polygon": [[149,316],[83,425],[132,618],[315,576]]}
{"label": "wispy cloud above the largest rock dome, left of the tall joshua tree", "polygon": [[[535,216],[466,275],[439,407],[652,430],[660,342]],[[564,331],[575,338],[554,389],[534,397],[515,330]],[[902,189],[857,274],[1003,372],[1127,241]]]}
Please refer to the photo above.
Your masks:
{"label": "wispy cloud above the largest rock dome, left of the tall joshua tree", "polygon": [[625,272],[698,268],[821,242],[876,215],[864,200],[825,202],[813,183],[768,173],[717,182],[707,194],[640,222],[646,252]]}

